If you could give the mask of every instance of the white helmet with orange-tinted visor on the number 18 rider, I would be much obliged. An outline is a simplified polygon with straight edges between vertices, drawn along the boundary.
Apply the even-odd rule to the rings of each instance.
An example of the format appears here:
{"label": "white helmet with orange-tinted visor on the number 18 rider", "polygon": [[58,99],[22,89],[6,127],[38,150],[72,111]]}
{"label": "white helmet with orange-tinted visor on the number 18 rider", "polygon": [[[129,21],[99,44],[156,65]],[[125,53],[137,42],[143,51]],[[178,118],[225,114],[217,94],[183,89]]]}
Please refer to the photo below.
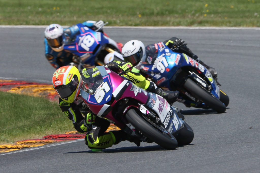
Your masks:
{"label": "white helmet with orange-tinted visor on the number 18 rider", "polygon": [[50,24],[44,31],[44,36],[51,49],[60,52],[64,47],[63,28],[59,24]]}

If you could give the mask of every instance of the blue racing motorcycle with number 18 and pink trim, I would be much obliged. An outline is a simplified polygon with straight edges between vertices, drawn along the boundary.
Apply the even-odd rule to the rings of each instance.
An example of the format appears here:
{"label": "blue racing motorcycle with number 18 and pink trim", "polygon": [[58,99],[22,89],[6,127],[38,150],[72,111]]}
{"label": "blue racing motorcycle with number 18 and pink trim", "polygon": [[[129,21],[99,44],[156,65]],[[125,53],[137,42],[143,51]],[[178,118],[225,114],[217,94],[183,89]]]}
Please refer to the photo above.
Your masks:
{"label": "blue racing motorcycle with number 18 and pink trim", "polygon": [[[104,23],[104,25],[106,24]],[[81,23],[76,24],[76,26],[79,28],[80,34],[72,41],[67,42],[64,45],[64,50],[74,55],[73,62],[79,70],[104,65],[114,60],[123,61],[122,45],[116,43],[103,32],[97,32],[103,26],[95,31]]]}

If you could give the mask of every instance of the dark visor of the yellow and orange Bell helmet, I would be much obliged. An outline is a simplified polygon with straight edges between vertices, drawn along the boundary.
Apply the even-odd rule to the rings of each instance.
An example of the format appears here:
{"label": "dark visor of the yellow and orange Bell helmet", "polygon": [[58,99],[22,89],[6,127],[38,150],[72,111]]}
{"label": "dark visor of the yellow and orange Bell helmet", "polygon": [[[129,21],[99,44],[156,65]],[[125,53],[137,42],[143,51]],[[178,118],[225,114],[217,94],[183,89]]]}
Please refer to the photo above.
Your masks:
{"label": "dark visor of the yellow and orange Bell helmet", "polygon": [[66,98],[76,91],[78,84],[79,80],[77,76],[74,75],[74,78],[72,78],[72,81],[70,83],[68,83],[67,85],[56,86],[54,89],[57,91],[61,98]]}

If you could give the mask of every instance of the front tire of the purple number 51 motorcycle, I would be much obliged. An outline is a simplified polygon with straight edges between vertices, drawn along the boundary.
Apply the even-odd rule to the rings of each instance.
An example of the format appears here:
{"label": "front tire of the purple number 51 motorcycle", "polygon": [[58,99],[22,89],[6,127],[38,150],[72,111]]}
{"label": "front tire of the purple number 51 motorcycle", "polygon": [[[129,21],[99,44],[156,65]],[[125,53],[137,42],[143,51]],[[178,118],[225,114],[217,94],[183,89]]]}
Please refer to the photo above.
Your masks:
{"label": "front tire of the purple number 51 motorcycle", "polygon": [[141,116],[138,115],[134,109],[130,109],[126,113],[127,121],[131,123],[136,128],[136,130],[140,131],[150,140],[154,141],[167,150],[176,149],[178,142],[172,134],[169,132],[166,134],[165,131],[162,131],[160,128],[155,128],[154,125],[147,122]]}

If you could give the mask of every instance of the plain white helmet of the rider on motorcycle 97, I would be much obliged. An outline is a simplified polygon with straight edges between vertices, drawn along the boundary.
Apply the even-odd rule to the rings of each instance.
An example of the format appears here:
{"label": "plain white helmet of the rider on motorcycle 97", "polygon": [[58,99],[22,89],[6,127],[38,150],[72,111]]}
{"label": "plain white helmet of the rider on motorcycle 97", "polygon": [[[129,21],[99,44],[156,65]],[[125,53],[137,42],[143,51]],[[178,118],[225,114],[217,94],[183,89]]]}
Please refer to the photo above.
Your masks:
{"label": "plain white helmet of the rider on motorcycle 97", "polygon": [[122,47],[122,55],[125,61],[133,64],[136,68],[145,60],[145,45],[141,41],[131,40]]}

